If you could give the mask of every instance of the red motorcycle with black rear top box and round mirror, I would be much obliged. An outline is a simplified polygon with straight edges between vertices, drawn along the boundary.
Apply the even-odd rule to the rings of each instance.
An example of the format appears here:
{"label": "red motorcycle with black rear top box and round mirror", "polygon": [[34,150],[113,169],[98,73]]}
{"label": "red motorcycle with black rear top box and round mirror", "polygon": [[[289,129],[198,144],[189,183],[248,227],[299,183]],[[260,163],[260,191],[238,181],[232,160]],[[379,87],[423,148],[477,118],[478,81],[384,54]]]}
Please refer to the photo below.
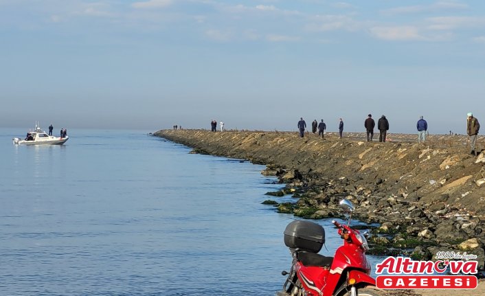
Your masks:
{"label": "red motorcycle with black rear top box and round mirror", "polygon": [[341,207],[350,212],[348,225],[337,221],[343,245],[334,257],[318,254],[325,243],[324,227],[305,220],[295,220],[284,230],[284,244],[289,247],[293,262],[280,296],[380,296],[376,280],[370,276],[370,264],[365,258],[368,243],[364,234],[352,229],[350,218],[354,205],[346,199]]}

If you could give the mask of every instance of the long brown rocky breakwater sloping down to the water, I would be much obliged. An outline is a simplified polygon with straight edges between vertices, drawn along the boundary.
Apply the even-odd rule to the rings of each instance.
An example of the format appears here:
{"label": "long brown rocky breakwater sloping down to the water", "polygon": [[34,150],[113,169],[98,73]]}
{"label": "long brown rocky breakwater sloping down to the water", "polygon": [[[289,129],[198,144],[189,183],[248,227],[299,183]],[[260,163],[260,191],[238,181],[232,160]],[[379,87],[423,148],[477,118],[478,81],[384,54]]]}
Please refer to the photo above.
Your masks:
{"label": "long brown rocky breakwater sloping down to the water", "polygon": [[[438,251],[477,255],[484,268],[485,157],[472,156],[467,137],[392,135],[392,141],[367,142],[353,133],[344,139],[313,134],[207,130],[155,133],[194,152],[248,159],[267,165],[284,187],[267,203],[279,212],[319,219],[339,216],[337,203],[358,205],[354,217],[369,223],[374,253],[405,253],[431,259]],[[484,139],[479,139],[484,147]],[[278,196],[292,194],[292,203]],[[374,224],[373,224],[374,223]],[[373,227],[372,225],[376,225]],[[453,254],[453,253],[449,253]]]}

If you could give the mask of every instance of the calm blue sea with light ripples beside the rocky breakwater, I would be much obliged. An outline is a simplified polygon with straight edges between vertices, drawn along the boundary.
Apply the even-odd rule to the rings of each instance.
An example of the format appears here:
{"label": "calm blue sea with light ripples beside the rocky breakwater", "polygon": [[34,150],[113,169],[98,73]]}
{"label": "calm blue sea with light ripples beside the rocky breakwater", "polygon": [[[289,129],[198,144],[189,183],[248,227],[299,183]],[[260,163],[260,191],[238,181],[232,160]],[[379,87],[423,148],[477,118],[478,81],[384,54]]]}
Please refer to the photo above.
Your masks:
{"label": "calm blue sea with light ripples beside the rocky breakwater", "polygon": [[[14,146],[0,129],[0,295],[274,295],[293,216],[264,166],[139,130]],[[286,198],[286,199],[289,199]],[[341,243],[329,220],[327,248]]]}

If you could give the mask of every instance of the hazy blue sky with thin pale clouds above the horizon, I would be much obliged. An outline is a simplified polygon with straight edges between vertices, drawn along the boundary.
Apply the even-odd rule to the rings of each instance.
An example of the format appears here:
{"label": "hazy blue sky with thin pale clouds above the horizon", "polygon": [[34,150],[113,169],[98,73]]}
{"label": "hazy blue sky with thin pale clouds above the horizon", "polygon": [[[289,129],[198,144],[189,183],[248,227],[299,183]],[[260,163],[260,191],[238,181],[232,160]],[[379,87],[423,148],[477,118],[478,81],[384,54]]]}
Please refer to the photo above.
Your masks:
{"label": "hazy blue sky with thin pale clouds above the horizon", "polygon": [[0,127],[485,126],[485,1],[0,0]]}

